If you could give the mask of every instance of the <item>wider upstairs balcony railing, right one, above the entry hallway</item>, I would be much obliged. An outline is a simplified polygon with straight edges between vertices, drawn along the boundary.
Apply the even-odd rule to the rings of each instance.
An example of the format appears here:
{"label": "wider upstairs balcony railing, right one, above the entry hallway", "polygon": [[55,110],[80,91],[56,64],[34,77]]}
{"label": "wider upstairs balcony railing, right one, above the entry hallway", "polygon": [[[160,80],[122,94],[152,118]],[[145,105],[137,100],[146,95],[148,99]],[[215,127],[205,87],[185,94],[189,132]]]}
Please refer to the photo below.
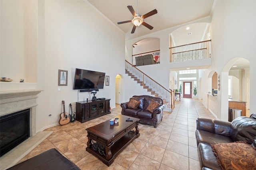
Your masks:
{"label": "wider upstairs balcony railing, right one, above the entry hallway", "polygon": [[170,63],[211,58],[211,40],[170,48]]}

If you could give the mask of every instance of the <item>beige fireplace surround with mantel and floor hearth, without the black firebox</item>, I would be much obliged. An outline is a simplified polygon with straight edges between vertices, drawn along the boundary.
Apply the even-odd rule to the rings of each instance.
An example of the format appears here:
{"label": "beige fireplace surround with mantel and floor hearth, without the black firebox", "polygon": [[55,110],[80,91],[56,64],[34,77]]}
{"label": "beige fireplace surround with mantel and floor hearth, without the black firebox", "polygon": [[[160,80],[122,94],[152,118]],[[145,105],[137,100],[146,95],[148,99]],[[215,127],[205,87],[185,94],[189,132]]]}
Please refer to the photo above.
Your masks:
{"label": "beige fireplace surround with mantel and floor hearth, without the black firebox", "polygon": [[0,157],[0,169],[4,170],[17,164],[26,154],[46,139],[52,131],[36,133],[36,99],[43,90],[0,90],[0,116],[29,109],[30,134],[29,138]]}

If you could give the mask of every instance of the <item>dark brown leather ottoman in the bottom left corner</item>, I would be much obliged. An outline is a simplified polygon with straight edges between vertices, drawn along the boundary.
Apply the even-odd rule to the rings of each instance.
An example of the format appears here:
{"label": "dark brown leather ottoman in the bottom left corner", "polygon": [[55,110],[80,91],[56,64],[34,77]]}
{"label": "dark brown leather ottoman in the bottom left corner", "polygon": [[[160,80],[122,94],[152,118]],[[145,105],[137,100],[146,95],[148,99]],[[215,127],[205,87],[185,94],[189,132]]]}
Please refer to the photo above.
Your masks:
{"label": "dark brown leather ottoman in the bottom left corner", "polygon": [[12,166],[8,170],[80,170],[80,168],[53,148]]}

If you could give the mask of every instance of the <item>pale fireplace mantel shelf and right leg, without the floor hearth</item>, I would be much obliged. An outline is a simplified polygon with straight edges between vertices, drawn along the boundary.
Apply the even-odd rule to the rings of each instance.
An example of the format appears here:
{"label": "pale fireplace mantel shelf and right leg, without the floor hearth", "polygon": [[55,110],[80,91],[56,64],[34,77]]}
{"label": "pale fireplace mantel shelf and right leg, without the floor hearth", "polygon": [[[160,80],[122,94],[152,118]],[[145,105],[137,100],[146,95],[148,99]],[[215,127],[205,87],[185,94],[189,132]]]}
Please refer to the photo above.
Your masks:
{"label": "pale fireplace mantel shelf and right leg, without the floor hearth", "polygon": [[36,98],[43,90],[1,90],[0,116],[30,109],[30,136],[36,134]]}

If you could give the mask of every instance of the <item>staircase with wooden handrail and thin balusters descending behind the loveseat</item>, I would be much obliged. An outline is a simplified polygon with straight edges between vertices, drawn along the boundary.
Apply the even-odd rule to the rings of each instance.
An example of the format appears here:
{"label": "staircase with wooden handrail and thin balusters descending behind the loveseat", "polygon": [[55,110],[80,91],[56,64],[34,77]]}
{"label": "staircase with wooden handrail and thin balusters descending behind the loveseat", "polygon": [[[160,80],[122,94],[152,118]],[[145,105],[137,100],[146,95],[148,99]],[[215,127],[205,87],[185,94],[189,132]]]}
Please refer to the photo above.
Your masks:
{"label": "staircase with wooden handrail and thin balusters descending behind the loveseat", "polygon": [[133,66],[131,63],[126,61],[125,64],[125,73],[128,74],[128,76],[131,76],[134,81],[140,84],[144,89],[146,89],[148,92],[150,92],[151,95],[154,95],[155,97],[162,98],[165,105],[166,111],[172,111],[174,108],[174,92],[167,90],[162,85],[160,85],[158,82],[150,78],[148,75],[146,75],[144,72]]}

